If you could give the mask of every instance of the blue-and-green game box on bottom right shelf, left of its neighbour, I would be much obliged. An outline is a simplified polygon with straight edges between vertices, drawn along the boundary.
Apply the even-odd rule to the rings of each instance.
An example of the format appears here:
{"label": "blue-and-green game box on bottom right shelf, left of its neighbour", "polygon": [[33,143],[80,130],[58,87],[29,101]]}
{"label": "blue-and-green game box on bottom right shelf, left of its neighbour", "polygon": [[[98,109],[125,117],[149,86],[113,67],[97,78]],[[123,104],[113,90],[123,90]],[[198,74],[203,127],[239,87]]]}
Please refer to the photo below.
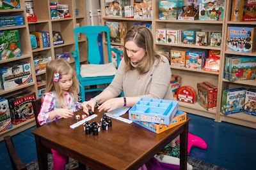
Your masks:
{"label": "blue-and-green game box on bottom right shelf, left of its neighbour", "polygon": [[221,97],[221,113],[230,115],[244,111],[246,89],[223,90]]}

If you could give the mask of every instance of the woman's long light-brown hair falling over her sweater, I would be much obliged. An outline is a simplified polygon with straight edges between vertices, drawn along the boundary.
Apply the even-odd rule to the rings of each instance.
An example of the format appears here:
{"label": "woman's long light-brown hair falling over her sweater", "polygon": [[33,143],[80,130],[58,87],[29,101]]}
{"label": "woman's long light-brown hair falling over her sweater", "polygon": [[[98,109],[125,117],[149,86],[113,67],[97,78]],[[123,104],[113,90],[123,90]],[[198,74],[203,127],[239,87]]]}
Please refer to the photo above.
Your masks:
{"label": "woman's long light-brown hair falling over her sweater", "polygon": [[[156,53],[153,48],[154,40],[152,33],[143,26],[134,26],[132,27],[127,34],[125,35],[124,44],[127,41],[133,41],[138,47],[144,48],[146,51],[143,59],[138,62],[138,69],[140,74],[147,73],[151,67],[153,66],[155,60],[157,60],[157,65],[162,60],[161,56],[165,56],[164,54]],[[168,57],[167,57],[168,58]],[[134,69],[131,65],[131,59],[127,56],[126,48],[124,47],[124,60],[125,60],[125,71],[129,69]]]}

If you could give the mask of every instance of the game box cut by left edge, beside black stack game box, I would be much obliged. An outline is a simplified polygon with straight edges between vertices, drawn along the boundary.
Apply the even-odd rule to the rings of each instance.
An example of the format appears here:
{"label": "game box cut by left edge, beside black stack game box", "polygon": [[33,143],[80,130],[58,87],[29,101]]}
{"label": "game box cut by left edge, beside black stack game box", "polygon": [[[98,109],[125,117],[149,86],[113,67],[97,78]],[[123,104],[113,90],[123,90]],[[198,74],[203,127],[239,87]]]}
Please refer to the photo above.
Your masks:
{"label": "game box cut by left edge, beside black stack game box", "polygon": [[0,97],[0,132],[12,128],[8,100]]}

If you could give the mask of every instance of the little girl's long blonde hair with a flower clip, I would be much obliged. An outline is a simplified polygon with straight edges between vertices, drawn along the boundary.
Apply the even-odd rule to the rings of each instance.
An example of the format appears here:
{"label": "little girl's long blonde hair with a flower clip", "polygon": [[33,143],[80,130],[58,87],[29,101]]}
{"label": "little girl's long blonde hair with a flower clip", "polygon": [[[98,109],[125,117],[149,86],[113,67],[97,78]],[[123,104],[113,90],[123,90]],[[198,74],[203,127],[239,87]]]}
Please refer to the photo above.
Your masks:
{"label": "little girl's long blonde hair with a flower clip", "polygon": [[72,74],[72,86],[68,89],[71,96],[74,97],[75,103],[79,101],[79,81],[77,80],[76,71],[70,66],[70,64],[65,59],[55,59],[47,63],[46,66],[46,90],[47,92],[54,92],[57,97],[59,108],[66,108],[66,99],[64,92],[61,89],[60,80],[54,82],[54,74],[59,73],[60,76],[64,74]]}

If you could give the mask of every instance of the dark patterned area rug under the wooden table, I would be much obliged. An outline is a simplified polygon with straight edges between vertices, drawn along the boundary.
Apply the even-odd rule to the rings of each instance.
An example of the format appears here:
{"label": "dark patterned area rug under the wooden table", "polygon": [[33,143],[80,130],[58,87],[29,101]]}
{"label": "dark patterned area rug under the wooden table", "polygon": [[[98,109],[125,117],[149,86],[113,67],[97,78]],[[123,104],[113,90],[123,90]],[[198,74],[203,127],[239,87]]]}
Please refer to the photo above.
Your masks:
{"label": "dark patterned area rug under the wooden table", "polygon": [[[223,167],[214,166],[212,164],[208,164],[202,160],[194,159],[192,157],[188,157],[188,163],[193,166],[193,169],[196,170],[227,170]],[[78,166],[78,162],[72,158],[69,158],[68,164],[66,164],[66,170],[74,169]],[[30,162],[27,164],[28,170],[38,170],[38,162],[37,160]],[[52,169],[52,154],[48,155],[48,169]],[[90,167],[86,167],[86,170],[91,170]]]}

